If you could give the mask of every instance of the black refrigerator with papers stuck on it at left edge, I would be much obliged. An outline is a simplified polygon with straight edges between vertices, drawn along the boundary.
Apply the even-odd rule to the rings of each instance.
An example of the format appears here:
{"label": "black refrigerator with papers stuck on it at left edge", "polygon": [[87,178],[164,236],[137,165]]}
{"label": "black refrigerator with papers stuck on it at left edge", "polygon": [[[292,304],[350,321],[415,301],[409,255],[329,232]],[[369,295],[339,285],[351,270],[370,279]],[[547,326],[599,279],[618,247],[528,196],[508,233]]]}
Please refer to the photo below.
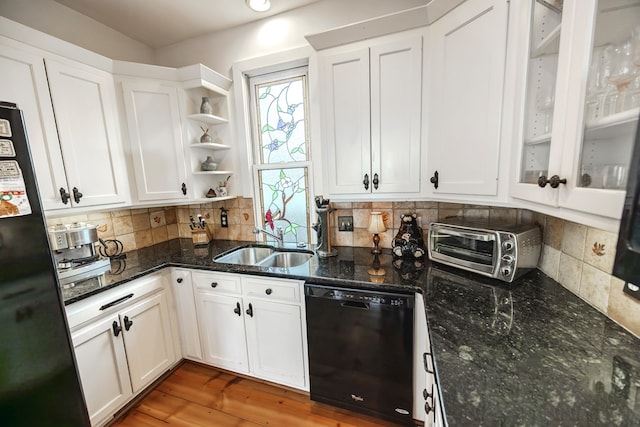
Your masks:
{"label": "black refrigerator with papers stuck on it at left edge", "polygon": [[22,113],[0,102],[0,425],[89,426]]}

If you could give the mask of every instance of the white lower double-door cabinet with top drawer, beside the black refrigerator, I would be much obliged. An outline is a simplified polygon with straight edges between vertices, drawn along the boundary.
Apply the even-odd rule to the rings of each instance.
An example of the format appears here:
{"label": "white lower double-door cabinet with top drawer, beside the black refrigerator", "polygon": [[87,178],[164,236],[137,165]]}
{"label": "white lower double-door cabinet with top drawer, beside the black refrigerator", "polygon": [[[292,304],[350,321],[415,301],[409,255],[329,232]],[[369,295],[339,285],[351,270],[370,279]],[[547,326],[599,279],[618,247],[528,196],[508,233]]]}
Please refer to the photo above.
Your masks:
{"label": "white lower double-door cabinet with top drawer, beside the black refrigerator", "polygon": [[110,421],[177,361],[165,283],[152,275],[67,307],[93,426]]}

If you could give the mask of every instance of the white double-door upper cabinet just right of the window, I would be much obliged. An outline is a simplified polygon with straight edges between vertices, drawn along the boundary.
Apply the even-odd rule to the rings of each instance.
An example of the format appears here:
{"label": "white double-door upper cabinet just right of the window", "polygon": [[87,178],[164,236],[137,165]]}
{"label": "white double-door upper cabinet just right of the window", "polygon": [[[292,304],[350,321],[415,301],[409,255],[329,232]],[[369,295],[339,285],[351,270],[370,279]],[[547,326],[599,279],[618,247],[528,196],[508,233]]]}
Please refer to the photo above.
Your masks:
{"label": "white double-door upper cabinet just right of the window", "polygon": [[417,193],[422,37],[331,49],[320,67],[329,192]]}

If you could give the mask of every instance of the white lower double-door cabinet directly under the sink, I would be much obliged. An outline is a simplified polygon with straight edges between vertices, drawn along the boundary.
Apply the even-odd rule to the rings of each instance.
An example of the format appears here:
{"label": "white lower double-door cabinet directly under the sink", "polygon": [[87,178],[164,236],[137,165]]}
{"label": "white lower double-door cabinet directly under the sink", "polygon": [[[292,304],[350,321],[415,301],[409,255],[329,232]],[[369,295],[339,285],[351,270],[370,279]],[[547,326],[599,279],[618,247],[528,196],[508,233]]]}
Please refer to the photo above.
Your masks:
{"label": "white lower double-door cabinet directly under the sink", "polygon": [[192,272],[206,363],[309,389],[302,281]]}

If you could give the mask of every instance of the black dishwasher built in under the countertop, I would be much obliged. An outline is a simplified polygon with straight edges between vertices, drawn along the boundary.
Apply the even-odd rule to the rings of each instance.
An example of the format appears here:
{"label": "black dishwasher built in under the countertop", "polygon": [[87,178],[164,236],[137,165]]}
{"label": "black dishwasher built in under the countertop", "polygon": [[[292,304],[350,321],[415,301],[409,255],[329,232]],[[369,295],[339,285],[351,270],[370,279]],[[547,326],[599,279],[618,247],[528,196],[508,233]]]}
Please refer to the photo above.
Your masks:
{"label": "black dishwasher built in under the countertop", "polygon": [[311,399],[412,424],[414,295],[305,284]]}

